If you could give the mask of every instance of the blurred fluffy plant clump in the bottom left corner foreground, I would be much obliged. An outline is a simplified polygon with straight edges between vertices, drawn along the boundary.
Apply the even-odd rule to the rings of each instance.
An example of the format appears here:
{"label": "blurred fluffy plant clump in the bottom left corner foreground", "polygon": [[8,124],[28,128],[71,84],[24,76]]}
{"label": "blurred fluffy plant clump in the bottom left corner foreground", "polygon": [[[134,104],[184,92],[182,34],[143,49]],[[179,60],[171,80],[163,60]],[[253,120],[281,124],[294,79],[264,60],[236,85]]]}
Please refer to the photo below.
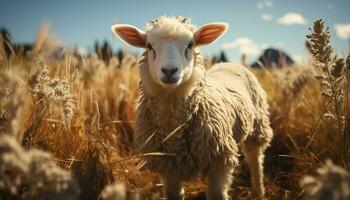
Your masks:
{"label": "blurred fluffy plant clump in the bottom left corner foreground", "polygon": [[25,151],[12,136],[0,135],[0,185],[23,199],[68,199],[79,197],[80,189],[70,172],[40,150]]}

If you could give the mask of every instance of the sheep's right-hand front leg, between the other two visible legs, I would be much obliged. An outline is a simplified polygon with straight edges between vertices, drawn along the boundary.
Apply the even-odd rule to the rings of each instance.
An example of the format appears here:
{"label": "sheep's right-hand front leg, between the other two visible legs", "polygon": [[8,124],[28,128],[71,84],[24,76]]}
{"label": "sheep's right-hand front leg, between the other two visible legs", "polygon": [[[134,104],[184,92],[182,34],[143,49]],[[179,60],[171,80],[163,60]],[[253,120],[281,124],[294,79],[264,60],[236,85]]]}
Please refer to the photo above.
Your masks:
{"label": "sheep's right-hand front leg, between the other two visible legs", "polygon": [[232,183],[232,167],[218,164],[208,174],[208,199],[228,200]]}

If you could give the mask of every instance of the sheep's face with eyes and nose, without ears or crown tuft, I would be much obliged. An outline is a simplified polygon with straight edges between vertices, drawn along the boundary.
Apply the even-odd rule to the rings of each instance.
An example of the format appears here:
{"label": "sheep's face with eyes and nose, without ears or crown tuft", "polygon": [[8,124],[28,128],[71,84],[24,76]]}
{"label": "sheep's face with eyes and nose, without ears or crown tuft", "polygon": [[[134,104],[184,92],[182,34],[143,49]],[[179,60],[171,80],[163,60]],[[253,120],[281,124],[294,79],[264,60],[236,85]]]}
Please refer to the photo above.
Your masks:
{"label": "sheep's face with eyes and nose, without ears or crown tuft", "polygon": [[175,37],[161,35],[158,29],[147,32],[148,64],[154,82],[175,88],[186,82],[194,65],[193,33],[183,29]]}

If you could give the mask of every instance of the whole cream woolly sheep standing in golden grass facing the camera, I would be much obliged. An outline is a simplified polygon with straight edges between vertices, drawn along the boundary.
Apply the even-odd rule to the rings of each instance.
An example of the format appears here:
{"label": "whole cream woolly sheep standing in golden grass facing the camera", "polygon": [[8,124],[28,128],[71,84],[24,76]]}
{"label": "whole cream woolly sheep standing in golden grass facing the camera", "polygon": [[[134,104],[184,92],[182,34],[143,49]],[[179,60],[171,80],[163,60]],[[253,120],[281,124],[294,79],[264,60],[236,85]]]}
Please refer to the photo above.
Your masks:
{"label": "whole cream woolly sheep standing in golden grass facing the camera", "polygon": [[[240,65],[220,63],[207,71],[199,52],[227,28],[216,22],[196,29],[181,16],[158,17],[145,31],[127,24],[111,27],[126,43],[145,49],[134,144],[148,155],[143,156],[146,169],[161,175],[167,199],[184,199],[182,183],[200,173],[208,180],[209,199],[229,199],[238,147],[254,193],[264,196],[264,151],[273,136],[267,95]],[[152,152],[158,154],[147,154]]]}

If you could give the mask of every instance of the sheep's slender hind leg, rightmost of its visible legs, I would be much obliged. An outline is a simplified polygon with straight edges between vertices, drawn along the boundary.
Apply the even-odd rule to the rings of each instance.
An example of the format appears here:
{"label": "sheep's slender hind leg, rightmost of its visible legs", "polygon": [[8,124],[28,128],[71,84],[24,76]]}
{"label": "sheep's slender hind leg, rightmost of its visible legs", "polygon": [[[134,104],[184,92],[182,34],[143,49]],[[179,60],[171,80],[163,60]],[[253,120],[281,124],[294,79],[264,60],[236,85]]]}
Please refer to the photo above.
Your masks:
{"label": "sheep's slender hind leg, rightmost of its visible legs", "polygon": [[256,196],[263,197],[265,195],[265,188],[263,183],[264,151],[261,146],[255,144],[244,144],[242,150],[245,156],[245,160],[248,163],[253,191]]}

